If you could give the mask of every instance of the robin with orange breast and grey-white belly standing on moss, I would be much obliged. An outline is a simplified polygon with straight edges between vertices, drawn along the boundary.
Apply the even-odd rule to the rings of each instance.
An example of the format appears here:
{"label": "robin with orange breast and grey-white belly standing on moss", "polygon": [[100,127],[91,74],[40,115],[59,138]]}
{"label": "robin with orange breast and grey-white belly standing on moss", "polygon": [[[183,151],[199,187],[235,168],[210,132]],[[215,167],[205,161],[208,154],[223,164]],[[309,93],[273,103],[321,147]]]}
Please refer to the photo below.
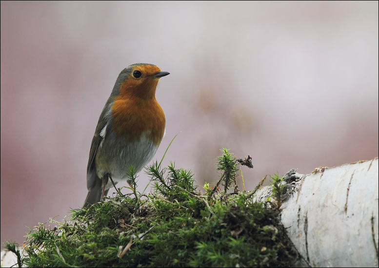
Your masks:
{"label": "robin with orange breast and grey-white belly standing on moss", "polygon": [[160,77],[153,64],[136,63],[117,77],[100,114],[87,166],[88,194],[83,207],[100,202],[114,183],[126,180],[150,162],[165,133],[166,119],[155,98]]}

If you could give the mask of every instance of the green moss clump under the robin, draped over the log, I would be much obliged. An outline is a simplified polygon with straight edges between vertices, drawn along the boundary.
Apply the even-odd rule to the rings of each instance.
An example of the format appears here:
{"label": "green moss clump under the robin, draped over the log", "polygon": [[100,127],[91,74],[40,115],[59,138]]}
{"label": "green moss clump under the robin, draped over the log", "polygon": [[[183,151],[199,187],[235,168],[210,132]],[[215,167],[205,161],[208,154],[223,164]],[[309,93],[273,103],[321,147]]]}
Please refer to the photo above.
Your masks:
{"label": "green moss clump under the robin, draped over the log", "polygon": [[[173,163],[148,168],[155,191],[118,194],[72,210],[72,223],[28,235],[29,267],[284,267],[297,258],[279,209],[237,192],[238,164],[221,150],[220,181],[194,186],[193,173]],[[132,174],[135,180],[135,175]],[[227,193],[235,184],[234,192]],[[219,189],[223,186],[223,190]],[[120,192],[119,192],[120,193]],[[141,197],[144,196],[144,199]],[[275,196],[278,202],[279,194]],[[54,221],[52,221],[54,222]],[[125,250],[127,249],[127,250]]]}

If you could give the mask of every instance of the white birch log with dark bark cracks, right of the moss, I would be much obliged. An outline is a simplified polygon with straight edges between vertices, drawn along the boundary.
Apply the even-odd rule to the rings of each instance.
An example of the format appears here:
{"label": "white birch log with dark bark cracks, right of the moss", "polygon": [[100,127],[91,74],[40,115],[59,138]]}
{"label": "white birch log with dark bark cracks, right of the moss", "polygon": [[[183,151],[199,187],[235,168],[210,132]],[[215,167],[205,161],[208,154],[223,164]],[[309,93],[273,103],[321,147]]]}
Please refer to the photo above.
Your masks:
{"label": "white birch log with dark bark cracks, right of the moss", "polygon": [[284,176],[281,222],[311,267],[378,267],[378,169],[375,158]]}

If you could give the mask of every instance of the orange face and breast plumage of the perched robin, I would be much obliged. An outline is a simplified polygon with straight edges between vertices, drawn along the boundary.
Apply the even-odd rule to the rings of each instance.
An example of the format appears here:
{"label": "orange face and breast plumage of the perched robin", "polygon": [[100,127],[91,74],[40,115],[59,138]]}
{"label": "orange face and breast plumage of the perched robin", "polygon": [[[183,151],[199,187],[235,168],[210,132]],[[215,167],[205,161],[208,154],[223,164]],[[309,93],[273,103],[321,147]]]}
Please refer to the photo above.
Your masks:
{"label": "orange face and breast plumage of the perched robin", "polygon": [[130,75],[121,83],[120,95],[112,106],[113,130],[136,141],[143,132],[159,145],[163,137],[165,116],[155,98],[160,77],[154,77],[160,68],[153,65],[133,66]]}

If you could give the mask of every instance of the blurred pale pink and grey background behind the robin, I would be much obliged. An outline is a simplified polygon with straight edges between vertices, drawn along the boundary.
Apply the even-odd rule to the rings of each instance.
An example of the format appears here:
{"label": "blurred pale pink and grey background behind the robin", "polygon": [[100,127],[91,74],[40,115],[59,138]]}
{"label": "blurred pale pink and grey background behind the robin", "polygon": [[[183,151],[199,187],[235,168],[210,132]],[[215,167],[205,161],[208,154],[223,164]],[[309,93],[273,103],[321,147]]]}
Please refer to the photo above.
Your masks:
{"label": "blurred pale pink and grey background behind the robin", "polygon": [[252,156],[246,190],[378,156],[378,45],[378,1],[1,1],[0,242],[83,204],[100,112],[137,62],[171,73],[155,159],[181,131],[163,164],[199,185],[221,147]]}

